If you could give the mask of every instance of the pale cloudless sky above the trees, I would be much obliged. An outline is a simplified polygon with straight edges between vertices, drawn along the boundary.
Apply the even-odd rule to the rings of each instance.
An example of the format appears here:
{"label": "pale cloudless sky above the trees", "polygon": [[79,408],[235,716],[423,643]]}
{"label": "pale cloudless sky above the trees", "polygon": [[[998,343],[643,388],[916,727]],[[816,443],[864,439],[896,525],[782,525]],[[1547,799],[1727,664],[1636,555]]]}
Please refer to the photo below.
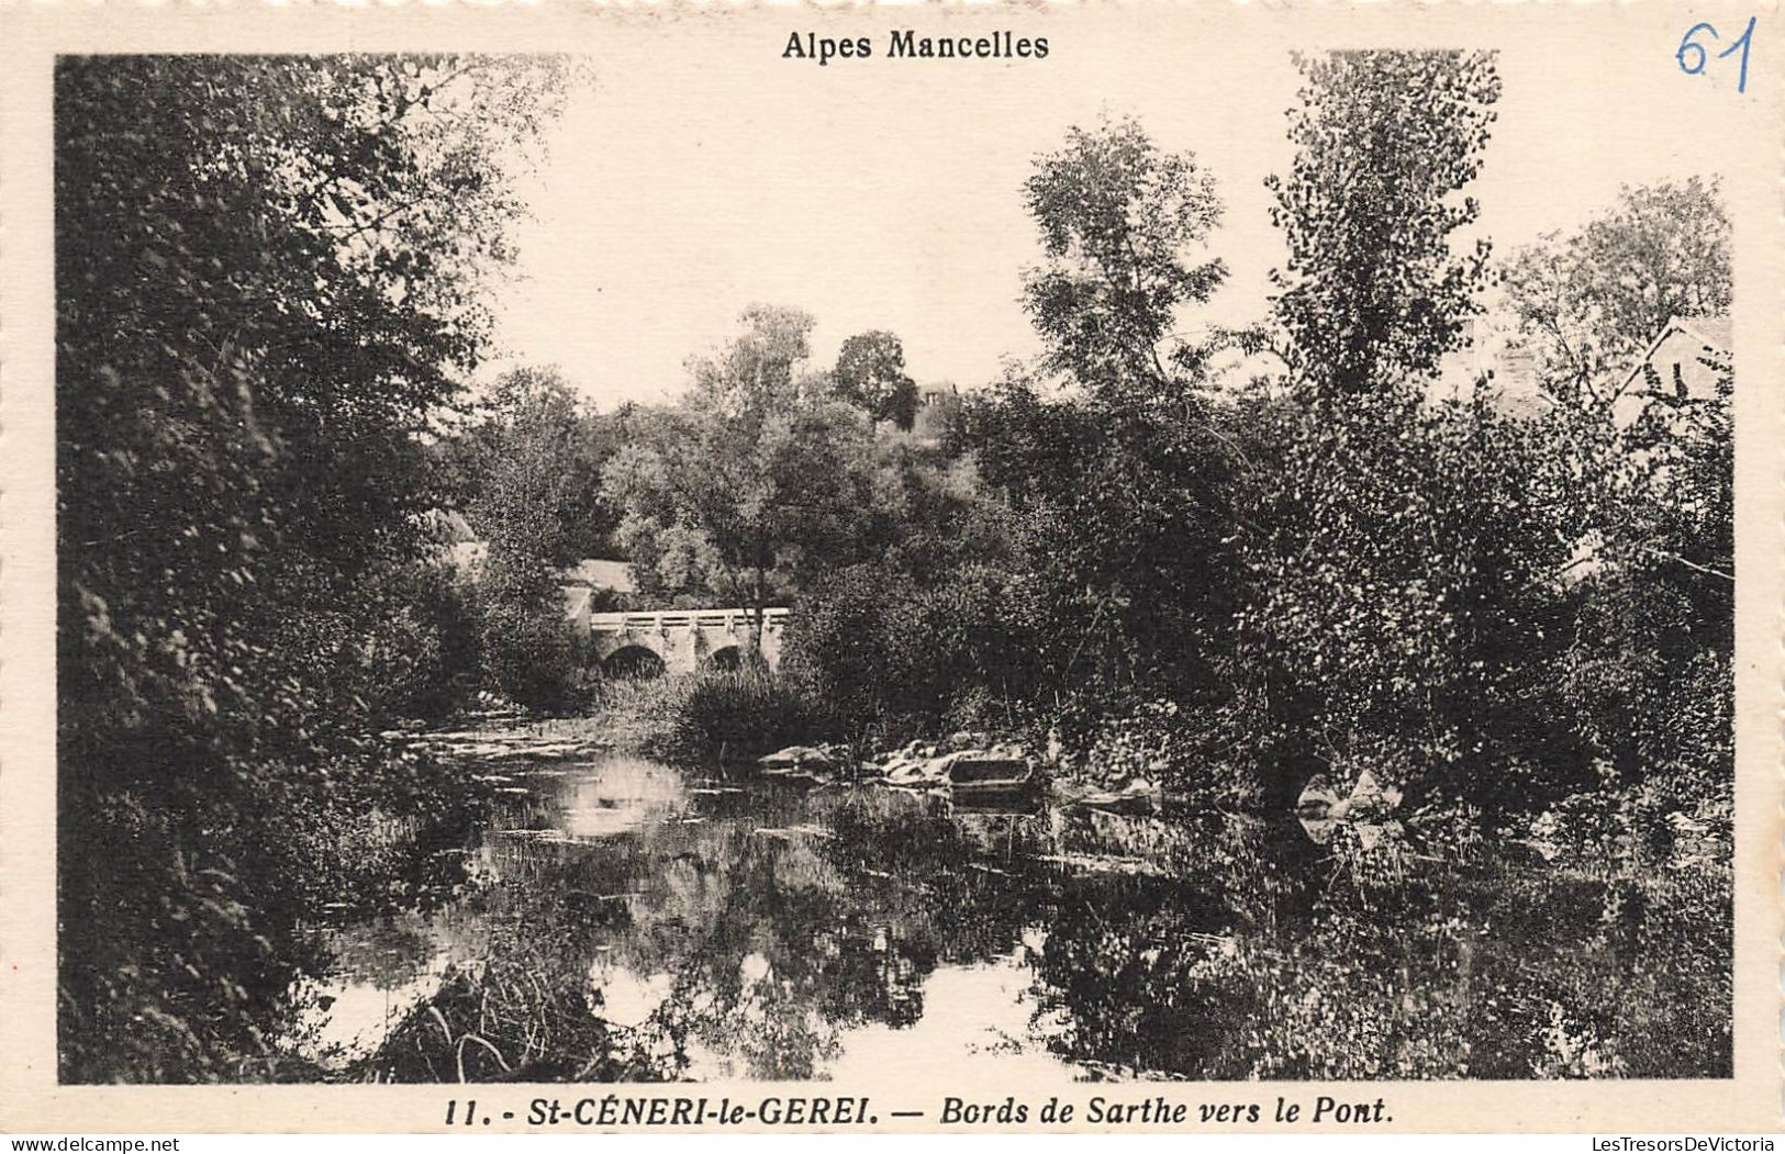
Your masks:
{"label": "pale cloudless sky above the trees", "polygon": [[[1012,18],[917,23],[966,32]],[[600,408],[669,400],[684,362],[762,301],[818,317],[814,364],[887,328],[919,382],[982,385],[1037,348],[1021,309],[1023,269],[1041,255],[1023,180],[1069,125],[1101,116],[1139,118],[1217,180],[1226,212],[1210,251],[1230,276],[1187,323],[1258,319],[1283,253],[1262,182],[1291,159],[1291,45],[1235,36],[1210,50],[1196,29],[1137,18],[1017,23],[1050,36],[1046,61],[819,70],[780,57],[787,30],[773,21],[677,30],[675,52],[650,48],[668,36],[653,25],[598,43],[593,86],[523,184],[532,216],[516,232],[491,371],[557,364]],[[839,18],[821,34],[864,30]],[[1542,41],[1503,48],[1499,120],[1469,189],[1498,253],[1590,219],[1621,184],[1714,171],[1706,141],[1726,132],[1733,91],[1669,68],[1676,41],[1648,41],[1590,66]]]}

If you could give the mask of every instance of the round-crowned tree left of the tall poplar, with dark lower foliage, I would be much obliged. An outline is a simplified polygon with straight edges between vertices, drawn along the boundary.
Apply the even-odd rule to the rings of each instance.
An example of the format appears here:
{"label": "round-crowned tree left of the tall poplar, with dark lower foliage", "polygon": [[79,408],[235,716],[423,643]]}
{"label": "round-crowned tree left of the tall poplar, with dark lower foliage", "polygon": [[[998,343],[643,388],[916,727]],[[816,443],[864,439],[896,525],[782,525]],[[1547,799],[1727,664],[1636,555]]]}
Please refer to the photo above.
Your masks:
{"label": "round-crowned tree left of the tall poplar, with dark lower foliage", "polygon": [[1200,250],[1214,178],[1132,121],[1073,128],[1035,161],[1025,198],[1044,262],[1025,275],[1066,392],[1012,375],[966,416],[987,482],[1016,508],[1016,598],[1041,681],[1094,703],[1196,694],[1226,615],[1228,473],[1241,453],[1205,392],[1207,348],[1180,312],[1225,276]]}

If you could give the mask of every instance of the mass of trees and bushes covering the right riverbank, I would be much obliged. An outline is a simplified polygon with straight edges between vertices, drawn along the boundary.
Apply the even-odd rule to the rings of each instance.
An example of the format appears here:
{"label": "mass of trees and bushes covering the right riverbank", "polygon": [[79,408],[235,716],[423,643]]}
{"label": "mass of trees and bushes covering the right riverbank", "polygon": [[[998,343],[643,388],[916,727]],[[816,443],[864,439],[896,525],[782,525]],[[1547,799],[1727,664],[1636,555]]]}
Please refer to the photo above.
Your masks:
{"label": "mass of trees and bushes covering the right riverbank", "polygon": [[1517,253],[1499,321],[1535,380],[1457,380],[1492,273],[1465,191],[1494,61],[1301,66],[1269,182],[1289,262],[1253,330],[1183,335],[1223,278],[1192,157],[1116,121],[1037,159],[1046,351],[941,446],[985,540],[809,585],[801,676],[844,731],[1014,726],[1185,801],[1283,813],[1367,767],[1494,820],[1626,788],[1656,824],[1721,812],[1733,367],[1706,350],[1710,396],[1626,382],[1667,319],[1728,307],[1715,187],[1628,191]]}

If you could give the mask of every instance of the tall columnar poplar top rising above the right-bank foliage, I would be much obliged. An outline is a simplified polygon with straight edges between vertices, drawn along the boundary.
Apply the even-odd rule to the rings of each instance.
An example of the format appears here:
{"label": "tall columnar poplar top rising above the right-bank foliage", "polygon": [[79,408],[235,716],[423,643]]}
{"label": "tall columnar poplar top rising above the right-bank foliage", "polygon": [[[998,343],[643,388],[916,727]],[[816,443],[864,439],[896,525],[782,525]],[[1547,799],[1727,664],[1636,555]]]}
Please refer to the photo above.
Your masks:
{"label": "tall columnar poplar top rising above the right-bank foliage", "polygon": [[1478,205],[1499,77],[1487,52],[1333,52],[1296,57],[1307,86],[1289,114],[1296,159],[1266,180],[1289,264],[1274,321],[1291,376],[1317,398],[1403,387],[1460,346],[1487,264],[1451,235]]}

